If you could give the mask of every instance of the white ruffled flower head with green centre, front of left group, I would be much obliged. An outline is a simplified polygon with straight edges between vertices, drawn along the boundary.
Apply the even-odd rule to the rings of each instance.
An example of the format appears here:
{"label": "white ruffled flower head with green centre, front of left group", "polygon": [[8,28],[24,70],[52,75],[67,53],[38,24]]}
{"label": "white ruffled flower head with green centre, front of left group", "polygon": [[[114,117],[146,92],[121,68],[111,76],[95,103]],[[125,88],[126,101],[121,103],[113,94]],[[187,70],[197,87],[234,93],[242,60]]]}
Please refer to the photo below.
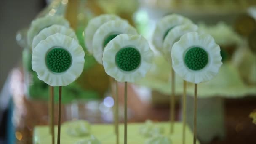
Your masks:
{"label": "white ruffled flower head with green centre, front of left group", "polygon": [[32,53],[32,69],[50,86],[66,86],[82,73],[85,53],[78,42],[54,34],[40,41]]}

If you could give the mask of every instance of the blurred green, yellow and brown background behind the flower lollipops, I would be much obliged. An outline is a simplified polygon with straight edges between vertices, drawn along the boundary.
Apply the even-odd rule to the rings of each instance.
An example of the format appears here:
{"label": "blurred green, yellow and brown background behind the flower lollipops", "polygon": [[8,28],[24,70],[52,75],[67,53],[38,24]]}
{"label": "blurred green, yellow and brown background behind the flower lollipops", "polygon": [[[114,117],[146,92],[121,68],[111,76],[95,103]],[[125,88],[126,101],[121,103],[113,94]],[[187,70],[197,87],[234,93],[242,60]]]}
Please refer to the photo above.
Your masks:
{"label": "blurred green, yellow and brown background behind the flower lollipops", "polygon": [[[163,16],[177,13],[197,24],[199,32],[212,35],[221,47],[223,58],[218,76],[199,85],[200,143],[256,143],[256,124],[253,123],[253,117],[256,119],[255,0],[1,0],[0,144],[31,144],[33,128],[48,123],[48,85],[38,80],[32,71],[32,51],[27,45],[27,30],[32,20],[45,15],[64,16],[87,56],[82,75],[63,89],[61,121],[113,122],[114,102],[109,77],[84,44],[83,31],[88,21],[103,13],[127,19],[149,40],[155,52],[147,77],[128,86],[129,122],[169,119],[171,65],[151,41],[156,22]],[[181,78],[176,77],[175,85],[175,120],[181,121]],[[123,84],[118,86],[120,120],[123,121]],[[193,84],[189,83],[187,123],[191,129],[192,96]]]}

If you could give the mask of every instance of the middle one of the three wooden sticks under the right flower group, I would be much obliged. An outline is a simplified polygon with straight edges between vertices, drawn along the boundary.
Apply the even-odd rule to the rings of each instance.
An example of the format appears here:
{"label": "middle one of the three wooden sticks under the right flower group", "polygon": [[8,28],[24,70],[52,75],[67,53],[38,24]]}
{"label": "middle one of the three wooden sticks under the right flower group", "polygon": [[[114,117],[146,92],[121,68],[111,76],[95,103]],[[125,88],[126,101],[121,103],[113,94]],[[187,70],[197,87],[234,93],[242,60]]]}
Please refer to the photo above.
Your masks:
{"label": "middle one of the three wooden sticks under the right flower group", "polygon": [[185,144],[186,138],[186,95],[187,95],[187,81],[183,80],[183,100],[182,100],[182,120],[183,120],[183,127],[182,127],[182,144]]}

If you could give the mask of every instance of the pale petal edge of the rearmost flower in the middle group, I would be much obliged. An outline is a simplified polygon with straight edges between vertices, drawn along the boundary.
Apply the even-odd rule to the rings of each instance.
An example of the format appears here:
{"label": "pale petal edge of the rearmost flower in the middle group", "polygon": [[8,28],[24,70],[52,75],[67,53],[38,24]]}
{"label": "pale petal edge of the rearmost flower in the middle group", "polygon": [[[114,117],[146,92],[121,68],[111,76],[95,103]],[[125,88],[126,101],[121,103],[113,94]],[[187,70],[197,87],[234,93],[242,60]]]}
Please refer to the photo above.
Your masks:
{"label": "pale petal edge of the rearmost flower in the middle group", "polygon": [[93,53],[93,35],[95,34],[96,30],[107,21],[119,19],[121,18],[114,14],[102,14],[88,22],[87,27],[85,27],[85,46],[89,53]]}

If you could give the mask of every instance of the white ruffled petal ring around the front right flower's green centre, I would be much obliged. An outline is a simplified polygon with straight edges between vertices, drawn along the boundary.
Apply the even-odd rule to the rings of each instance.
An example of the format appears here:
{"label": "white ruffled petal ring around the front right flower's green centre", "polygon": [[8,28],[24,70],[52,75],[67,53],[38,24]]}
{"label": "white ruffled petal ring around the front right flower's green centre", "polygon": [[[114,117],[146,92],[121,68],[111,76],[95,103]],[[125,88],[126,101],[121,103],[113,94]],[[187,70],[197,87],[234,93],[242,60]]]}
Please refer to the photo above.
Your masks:
{"label": "white ruffled petal ring around the front right flower's green centre", "polygon": [[[203,48],[208,53],[208,64],[201,70],[193,71],[184,63],[184,53],[191,47]],[[220,47],[208,34],[189,32],[174,43],[172,51],[172,66],[174,71],[184,80],[191,83],[201,83],[211,80],[219,72],[222,65]]]}

